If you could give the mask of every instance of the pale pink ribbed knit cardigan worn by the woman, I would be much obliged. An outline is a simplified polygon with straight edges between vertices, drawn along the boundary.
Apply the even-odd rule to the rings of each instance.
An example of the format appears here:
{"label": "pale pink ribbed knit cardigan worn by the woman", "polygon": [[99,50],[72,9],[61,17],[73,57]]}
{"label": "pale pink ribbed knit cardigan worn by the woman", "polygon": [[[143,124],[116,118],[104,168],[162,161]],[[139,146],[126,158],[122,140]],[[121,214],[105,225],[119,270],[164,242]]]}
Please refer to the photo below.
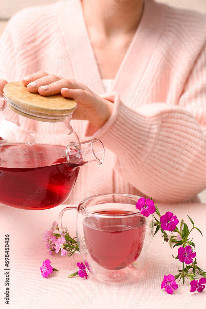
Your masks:
{"label": "pale pink ribbed knit cardigan worn by the woman", "polygon": [[102,140],[106,157],[102,166],[81,168],[70,203],[108,192],[194,201],[206,186],[205,42],[203,15],[145,0],[132,43],[117,55],[112,92],[104,93],[80,0],[28,8],[10,20],[0,40],[1,78],[44,70],[114,102],[101,128],[72,121],[81,141]]}

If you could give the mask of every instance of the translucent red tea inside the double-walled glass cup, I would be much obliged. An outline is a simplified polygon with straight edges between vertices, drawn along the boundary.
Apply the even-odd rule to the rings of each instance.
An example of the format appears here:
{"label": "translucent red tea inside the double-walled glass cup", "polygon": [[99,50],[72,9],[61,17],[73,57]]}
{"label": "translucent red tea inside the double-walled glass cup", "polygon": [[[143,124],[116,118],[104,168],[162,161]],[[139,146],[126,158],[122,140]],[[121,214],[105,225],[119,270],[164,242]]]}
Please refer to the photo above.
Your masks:
{"label": "translucent red tea inside the double-walled glass cup", "polygon": [[[97,214],[121,215],[131,211],[107,210]],[[132,213],[131,213],[132,214]],[[143,248],[146,220],[141,216],[91,217],[83,220],[87,250],[106,269],[123,269],[139,257]]]}

